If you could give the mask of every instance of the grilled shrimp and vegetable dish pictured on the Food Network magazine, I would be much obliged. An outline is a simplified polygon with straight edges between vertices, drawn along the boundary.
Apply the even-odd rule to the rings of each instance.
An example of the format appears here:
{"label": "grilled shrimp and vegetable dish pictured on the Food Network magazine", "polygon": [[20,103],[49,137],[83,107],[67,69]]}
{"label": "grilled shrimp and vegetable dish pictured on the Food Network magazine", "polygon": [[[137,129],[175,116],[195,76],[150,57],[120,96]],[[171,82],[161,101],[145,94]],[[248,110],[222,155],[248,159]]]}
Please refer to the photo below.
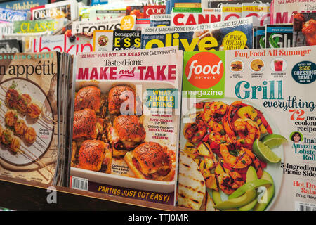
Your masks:
{"label": "grilled shrimp and vegetable dish pictured on the Food Network magazine", "polygon": [[[247,185],[275,186],[273,179],[279,181],[282,174],[274,164],[282,159],[278,156],[282,155],[282,146],[274,151],[276,155],[273,155],[274,158],[268,163],[260,152],[268,136],[279,136],[273,131],[277,128],[272,129],[265,115],[258,108],[254,108],[254,105],[229,98],[198,102],[192,111],[195,113],[189,111],[188,115],[185,115],[194,122],[186,123],[183,127],[182,135],[187,142],[181,149],[180,167],[187,161],[190,161],[191,165],[197,163],[199,169],[195,174],[199,174],[202,181],[204,180],[204,190],[211,192],[213,196],[213,200],[206,197],[210,198],[207,201],[213,201],[213,205],[217,205],[219,210],[231,209],[238,204],[244,207],[239,208],[242,211],[247,207],[263,210],[265,205],[258,204],[256,200],[249,205],[243,205],[242,202],[229,203],[229,199],[244,194],[242,189],[246,189]],[[267,134],[268,136],[264,136]],[[187,157],[190,159],[185,159]],[[185,173],[180,173],[178,203],[199,209],[195,205],[201,205],[204,196],[199,193],[199,203],[192,200],[190,202],[190,195],[187,195],[186,189],[189,177]],[[277,187],[279,188],[279,184]],[[228,202],[222,205],[219,204],[222,201],[219,191],[228,197]],[[256,192],[251,194],[256,195]],[[269,198],[271,201],[272,195]]]}

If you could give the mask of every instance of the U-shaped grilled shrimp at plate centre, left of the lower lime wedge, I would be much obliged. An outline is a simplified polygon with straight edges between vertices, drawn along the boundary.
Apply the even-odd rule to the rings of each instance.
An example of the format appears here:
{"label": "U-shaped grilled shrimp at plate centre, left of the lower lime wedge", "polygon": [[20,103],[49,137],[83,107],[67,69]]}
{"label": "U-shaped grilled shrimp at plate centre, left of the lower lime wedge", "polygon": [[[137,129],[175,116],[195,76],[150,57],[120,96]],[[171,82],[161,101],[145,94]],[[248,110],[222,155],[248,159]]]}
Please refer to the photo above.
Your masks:
{"label": "U-shaped grilled shrimp at plate centre, left of the lower lime wedge", "polygon": [[224,144],[220,145],[220,155],[222,155],[224,162],[234,169],[248,167],[255,159],[254,153],[244,147],[241,147],[239,153],[232,155],[228,146]]}

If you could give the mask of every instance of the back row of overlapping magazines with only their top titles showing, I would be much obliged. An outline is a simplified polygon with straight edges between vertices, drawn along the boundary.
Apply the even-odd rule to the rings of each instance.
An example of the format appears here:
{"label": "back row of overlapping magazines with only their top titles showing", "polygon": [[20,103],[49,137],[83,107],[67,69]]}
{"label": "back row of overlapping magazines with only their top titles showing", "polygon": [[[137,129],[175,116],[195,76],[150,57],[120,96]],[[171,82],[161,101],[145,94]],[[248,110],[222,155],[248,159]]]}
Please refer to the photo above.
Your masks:
{"label": "back row of overlapping magazines with only their top titles showing", "polygon": [[[249,5],[255,3],[244,4],[240,4],[240,7],[243,5],[243,7],[252,7],[252,10],[261,7],[260,4],[256,7]],[[221,4],[221,7],[227,6],[230,10],[235,10],[228,5]],[[70,22],[74,15],[77,15],[76,13],[72,15],[72,11],[76,11],[79,6],[72,1],[62,1],[54,6],[67,13],[63,15],[45,13],[50,7],[35,7],[31,8],[34,20],[1,23],[1,52],[41,52],[60,49],[77,54],[91,49],[96,51],[148,49],[174,45],[187,51],[197,48],[199,50],[262,49],[315,44],[315,13],[293,13],[291,24],[276,25],[268,23],[270,22],[268,19],[264,23],[258,23],[258,18],[253,13],[250,13],[253,16],[230,17],[225,21],[215,20],[216,15],[212,13],[216,13],[216,8],[204,8],[202,13],[195,12],[200,8],[182,8],[182,11],[179,10],[181,8],[173,8],[171,14],[152,14],[150,19],[140,19],[138,15],[132,13],[127,15],[126,9],[101,11],[94,8],[103,17],[95,16]],[[159,12],[159,8],[156,13]],[[93,14],[91,7],[89,9],[89,14]],[[155,8],[151,9],[154,11]],[[43,16],[39,17],[37,14]],[[261,16],[266,18],[264,15]],[[94,32],[97,34],[94,35]],[[169,37],[169,34],[173,36]]]}

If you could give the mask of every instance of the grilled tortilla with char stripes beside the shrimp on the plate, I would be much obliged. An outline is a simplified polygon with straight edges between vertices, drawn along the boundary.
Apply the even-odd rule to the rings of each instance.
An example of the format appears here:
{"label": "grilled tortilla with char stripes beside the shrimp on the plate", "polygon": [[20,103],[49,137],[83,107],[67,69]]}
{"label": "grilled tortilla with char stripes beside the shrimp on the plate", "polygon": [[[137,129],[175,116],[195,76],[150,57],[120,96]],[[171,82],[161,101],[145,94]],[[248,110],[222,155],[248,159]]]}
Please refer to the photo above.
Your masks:
{"label": "grilled tortilla with char stripes beside the shrimp on the plate", "polygon": [[178,205],[199,210],[205,193],[205,181],[197,163],[186,153],[180,152]]}

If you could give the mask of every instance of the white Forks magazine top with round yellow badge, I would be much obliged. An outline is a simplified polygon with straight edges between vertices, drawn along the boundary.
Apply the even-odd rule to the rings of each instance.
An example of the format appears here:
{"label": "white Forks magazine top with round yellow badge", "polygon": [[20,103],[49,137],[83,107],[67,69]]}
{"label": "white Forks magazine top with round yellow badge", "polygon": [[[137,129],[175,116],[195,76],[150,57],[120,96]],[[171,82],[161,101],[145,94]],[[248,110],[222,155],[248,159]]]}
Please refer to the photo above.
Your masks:
{"label": "white Forks magazine top with round yellow badge", "polygon": [[93,37],[93,30],[135,30],[135,15],[126,15],[119,18],[96,21],[74,21],[72,34]]}

